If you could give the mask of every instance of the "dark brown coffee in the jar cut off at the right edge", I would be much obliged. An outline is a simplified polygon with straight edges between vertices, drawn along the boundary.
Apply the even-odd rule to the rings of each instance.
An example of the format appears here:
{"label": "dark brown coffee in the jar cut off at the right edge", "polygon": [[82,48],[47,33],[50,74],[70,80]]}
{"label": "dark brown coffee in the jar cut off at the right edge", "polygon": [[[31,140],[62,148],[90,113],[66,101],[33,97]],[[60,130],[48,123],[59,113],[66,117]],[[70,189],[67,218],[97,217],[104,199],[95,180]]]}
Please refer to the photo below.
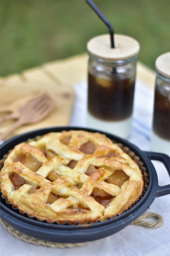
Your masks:
{"label": "dark brown coffee in the jar cut off at the right edge", "polygon": [[153,131],[166,140],[170,140],[170,100],[155,90]]}

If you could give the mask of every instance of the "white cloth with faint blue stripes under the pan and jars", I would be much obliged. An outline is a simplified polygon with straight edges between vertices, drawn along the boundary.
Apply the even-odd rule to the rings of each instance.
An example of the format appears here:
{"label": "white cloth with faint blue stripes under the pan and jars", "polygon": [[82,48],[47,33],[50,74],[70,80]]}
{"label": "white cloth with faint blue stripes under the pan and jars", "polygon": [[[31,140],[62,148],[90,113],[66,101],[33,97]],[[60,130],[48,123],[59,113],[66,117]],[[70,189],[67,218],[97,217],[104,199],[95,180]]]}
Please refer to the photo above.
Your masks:
{"label": "white cloth with faint blue stripes under the pan and jars", "polygon": [[[85,127],[87,82],[75,85],[77,98],[71,126]],[[150,150],[153,90],[136,81],[133,128],[129,141],[141,150]],[[161,162],[153,161],[159,185],[167,185],[170,178]],[[0,225],[1,256],[169,256],[170,255],[170,195],[156,198],[147,212],[163,216],[164,225],[156,229],[129,225],[120,232],[82,247],[51,248],[28,244],[12,236]]]}

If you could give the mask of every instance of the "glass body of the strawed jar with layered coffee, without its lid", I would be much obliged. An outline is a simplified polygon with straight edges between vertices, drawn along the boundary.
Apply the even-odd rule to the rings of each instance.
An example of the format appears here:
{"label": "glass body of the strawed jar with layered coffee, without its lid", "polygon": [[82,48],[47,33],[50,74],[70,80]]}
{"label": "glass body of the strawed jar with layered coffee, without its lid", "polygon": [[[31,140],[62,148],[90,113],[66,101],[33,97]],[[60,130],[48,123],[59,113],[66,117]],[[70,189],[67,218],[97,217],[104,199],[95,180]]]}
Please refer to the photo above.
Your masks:
{"label": "glass body of the strawed jar with layered coffee, without its lid", "polygon": [[138,53],[119,60],[105,60],[88,54],[87,126],[128,138]]}

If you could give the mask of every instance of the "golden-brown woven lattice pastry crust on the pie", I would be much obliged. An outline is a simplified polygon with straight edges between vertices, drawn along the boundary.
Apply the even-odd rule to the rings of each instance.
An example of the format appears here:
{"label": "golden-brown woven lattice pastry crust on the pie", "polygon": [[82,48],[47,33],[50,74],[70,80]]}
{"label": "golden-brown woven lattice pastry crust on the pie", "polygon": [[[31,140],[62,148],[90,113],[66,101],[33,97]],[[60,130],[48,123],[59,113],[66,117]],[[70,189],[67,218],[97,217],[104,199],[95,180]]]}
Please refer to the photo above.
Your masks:
{"label": "golden-brown woven lattice pastry crust on the pie", "polygon": [[[93,154],[79,150],[89,141],[96,147]],[[45,150],[53,152],[54,156],[48,160],[43,153]],[[115,156],[106,157],[111,150]],[[16,162],[23,154],[29,155],[40,167],[36,172],[22,161]],[[71,160],[78,161],[73,169],[68,167]],[[85,174],[89,165],[96,167],[90,176]],[[124,171],[129,177],[122,186],[104,181],[116,170]],[[46,179],[52,172],[57,175],[53,182]],[[14,173],[26,181],[17,190],[9,178]],[[85,131],[51,132],[38,141],[18,144],[0,171],[0,189],[9,203],[29,216],[58,223],[84,224],[113,218],[139,199],[143,186],[142,173],[130,156],[105,135]],[[29,194],[31,188],[39,189]],[[94,188],[113,197],[106,208],[91,196]],[[47,203],[50,193],[59,197],[51,204]]]}

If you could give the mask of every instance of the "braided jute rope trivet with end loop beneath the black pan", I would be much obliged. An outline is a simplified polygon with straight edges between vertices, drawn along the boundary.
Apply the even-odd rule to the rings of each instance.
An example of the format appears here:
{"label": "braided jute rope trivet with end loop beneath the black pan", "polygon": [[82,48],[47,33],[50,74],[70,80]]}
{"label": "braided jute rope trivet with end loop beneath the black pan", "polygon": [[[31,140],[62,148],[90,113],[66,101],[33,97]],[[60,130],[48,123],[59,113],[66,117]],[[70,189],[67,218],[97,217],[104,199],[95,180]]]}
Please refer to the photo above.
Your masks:
{"label": "braided jute rope trivet with end loop beneath the black pan", "polygon": [[[143,219],[145,218],[153,218],[155,222],[147,222],[144,221]],[[37,244],[37,245],[45,245],[45,246],[50,246],[50,247],[74,247],[74,246],[82,246],[85,244],[88,244],[89,242],[86,243],[75,243],[75,244],[62,244],[62,243],[54,243],[54,242],[48,242],[48,241],[43,241],[34,237],[31,237],[29,235],[26,235],[13,227],[11,227],[6,221],[3,221],[0,218],[0,223],[3,225],[3,227],[8,230],[11,235],[16,236],[17,238],[26,241],[27,243],[32,243],[32,244]],[[136,221],[133,221],[131,225],[139,225],[143,227],[149,227],[149,228],[157,228],[160,227],[164,224],[164,219],[161,215],[153,213],[153,212],[147,212],[141,215]]]}

